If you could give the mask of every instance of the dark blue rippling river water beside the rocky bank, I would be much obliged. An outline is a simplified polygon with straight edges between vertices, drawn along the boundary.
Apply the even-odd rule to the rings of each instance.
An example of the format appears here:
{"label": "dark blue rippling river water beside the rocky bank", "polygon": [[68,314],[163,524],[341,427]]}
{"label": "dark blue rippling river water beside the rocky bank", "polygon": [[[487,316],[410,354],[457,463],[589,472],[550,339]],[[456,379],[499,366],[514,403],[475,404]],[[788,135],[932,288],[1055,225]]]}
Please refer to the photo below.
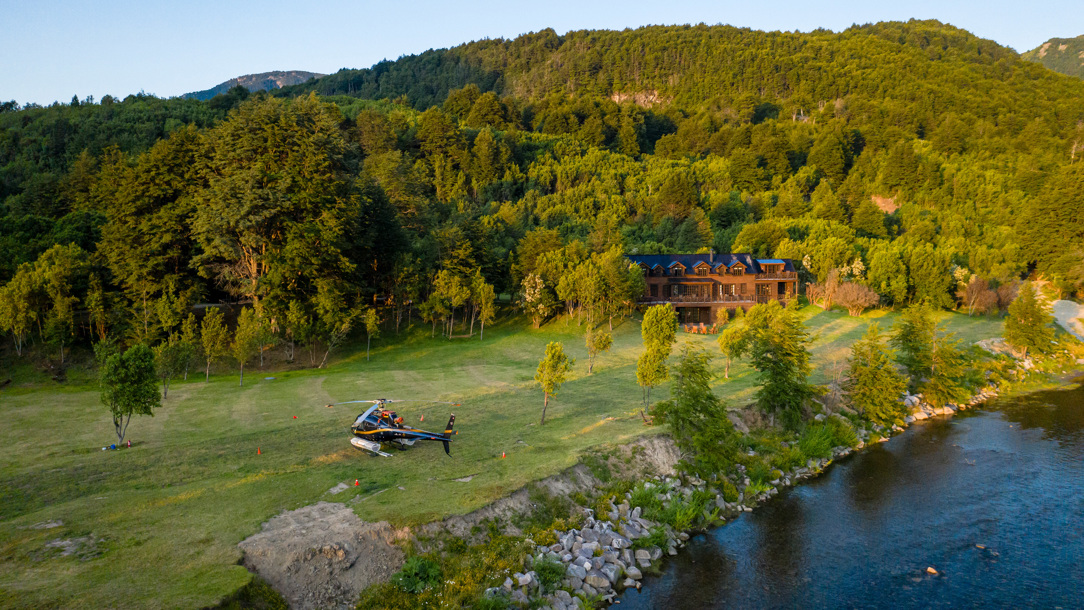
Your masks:
{"label": "dark blue rippling river water beside the rocky bank", "polygon": [[645,585],[620,608],[1084,608],[1084,388],[912,426]]}

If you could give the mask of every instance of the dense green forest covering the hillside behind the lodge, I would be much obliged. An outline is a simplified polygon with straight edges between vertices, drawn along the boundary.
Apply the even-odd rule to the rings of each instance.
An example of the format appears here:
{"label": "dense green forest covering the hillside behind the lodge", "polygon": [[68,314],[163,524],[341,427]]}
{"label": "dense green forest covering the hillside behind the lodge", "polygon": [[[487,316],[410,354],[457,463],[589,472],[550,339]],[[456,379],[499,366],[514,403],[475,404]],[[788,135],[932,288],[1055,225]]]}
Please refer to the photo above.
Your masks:
{"label": "dense green forest covering the hillside behind the lodge", "polygon": [[63,358],[232,301],[291,349],[365,307],[451,335],[493,293],[538,323],[614,315],[638,286],[621,252],[708,248],[892,307],[989,309],[1029,275],[1080,295],[1082,99],[909,22],[544,30],[272,93],[9,102],[0,332]]}

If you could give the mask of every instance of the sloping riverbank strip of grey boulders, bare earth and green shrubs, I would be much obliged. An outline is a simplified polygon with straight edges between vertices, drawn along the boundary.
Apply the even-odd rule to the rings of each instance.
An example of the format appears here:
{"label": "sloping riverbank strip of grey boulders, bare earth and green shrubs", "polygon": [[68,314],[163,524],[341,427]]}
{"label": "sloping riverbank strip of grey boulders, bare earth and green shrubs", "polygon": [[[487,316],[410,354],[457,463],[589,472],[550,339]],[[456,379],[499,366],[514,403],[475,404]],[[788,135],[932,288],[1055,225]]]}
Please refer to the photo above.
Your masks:
{"label": "sloping riverbank strip of grey boulders, bare earth and green shrubs", "polygon": [[641,588],[692,535],[724,525],[835,459],[887,441],[915,421],[951,416],[1005,392],[1061,385],[1082,346],[1043,359],[984,348],[956,402],[903,392],[893,417],[870,421],[822,388],[800,431],[769,425],[752,405],[726,414],[724,462],[683,452],[670,436],[588,452],[576,467],[503,504],[416,532],[411,558],[358,608],[601,608]]}

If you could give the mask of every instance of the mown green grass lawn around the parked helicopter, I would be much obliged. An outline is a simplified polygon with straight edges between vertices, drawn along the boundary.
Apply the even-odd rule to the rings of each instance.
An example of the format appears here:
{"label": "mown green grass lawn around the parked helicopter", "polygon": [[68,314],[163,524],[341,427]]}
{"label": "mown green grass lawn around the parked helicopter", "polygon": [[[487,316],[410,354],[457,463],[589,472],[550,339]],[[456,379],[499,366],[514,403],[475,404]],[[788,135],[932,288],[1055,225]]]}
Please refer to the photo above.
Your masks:
{"label": "mown green grass lawn around the parked helicopter", "polygon": [[[803,315],[815,337],[817,382],[836,374],[870,321],[888,328],[895,319],[815,308]],[[959,314],[944,322],[967,341],[1002,329],[1001,321]],[[582,327],[564,319],[526,326],[505,320],[487,328],[485,341],[433,339],[418,327],[377,341],[370,362],[362,346],[325,369],[251,367],[244,388],[235,373],[175,381],[153,418],[132,420],[130,451],[101,451],[116,437],[93,385],[78,377],[65,386],[13,384],[0,394],[0,606],[214,605],[249,579],[236,544],[282,510],[324,499],[349,503],[365,520],[422,523],[557,472],[586,447],[657,431],[640,418],[636,320],[615,329],[614,349],[591,376]],[[577,364],[540,426],[542,393],[532,378],[552,340]],[[679,340],[718,353],[714,336],[680,333]],[[722,359],[714,365],[721,375]],[[720,376],[717,392],[731,406],[749,402],[754,375],[735,363],[731,377]],[[348,426],[362,408],[323,405],[369,398],[462,403],[399,405],[409,423],[433,429],[454,411],[451,457],[439,443],[392,450],[391,458],[352,449]],[[351,486],[328,494],[339,482]],[[69,541],[72,553],[56,541]]]}

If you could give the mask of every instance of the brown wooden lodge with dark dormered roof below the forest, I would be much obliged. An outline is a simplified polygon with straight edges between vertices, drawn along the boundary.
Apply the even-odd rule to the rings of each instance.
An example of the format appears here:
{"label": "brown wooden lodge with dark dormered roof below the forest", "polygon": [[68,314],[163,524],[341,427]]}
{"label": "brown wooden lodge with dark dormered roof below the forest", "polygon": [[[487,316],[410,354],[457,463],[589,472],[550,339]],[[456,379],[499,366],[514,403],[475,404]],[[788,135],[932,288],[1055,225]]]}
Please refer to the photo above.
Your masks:
{"label": "brown wooden lodge with dark dormered roof below the forest", "polygon": [[748,310],[798,296],[798,273],[789,259],[751,255],[625,255],[644,271],[640,302],[670,303],[682,324],[714,324],[719,310]]}

